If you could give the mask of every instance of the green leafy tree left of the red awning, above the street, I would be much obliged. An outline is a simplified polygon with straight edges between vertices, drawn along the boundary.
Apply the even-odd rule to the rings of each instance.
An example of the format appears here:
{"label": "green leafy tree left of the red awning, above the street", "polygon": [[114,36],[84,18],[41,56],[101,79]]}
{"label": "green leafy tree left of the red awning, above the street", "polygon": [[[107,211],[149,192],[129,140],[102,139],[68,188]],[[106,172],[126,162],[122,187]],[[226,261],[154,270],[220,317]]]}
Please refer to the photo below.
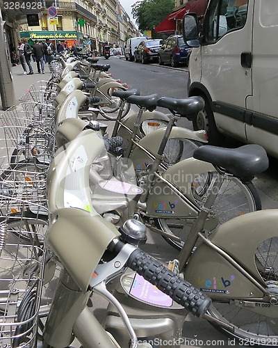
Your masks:
{"label": "green leafy tree left of the red awning, above the street", "polygon": [[152,30],[154,34],[154,28],[174,9],[174,0],[142,0],[131,7],[139,31]]}

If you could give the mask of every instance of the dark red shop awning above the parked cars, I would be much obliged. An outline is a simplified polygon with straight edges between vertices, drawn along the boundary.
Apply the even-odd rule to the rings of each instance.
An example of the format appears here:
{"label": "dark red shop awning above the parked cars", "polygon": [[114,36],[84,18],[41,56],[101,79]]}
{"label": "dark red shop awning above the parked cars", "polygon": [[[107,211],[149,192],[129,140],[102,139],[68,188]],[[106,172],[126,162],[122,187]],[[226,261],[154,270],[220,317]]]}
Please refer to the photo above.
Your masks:
{"label": "dark red shop awning above the parked cars", "polygon": [[176,30],[176,21],[183,19],[186,13],[196,13],[198,17],[203,16],[208,6],[207,0],[196,0],[186,3],[186,6],[170,13],[161,23],[154,28],[156,33],[169,33]]}

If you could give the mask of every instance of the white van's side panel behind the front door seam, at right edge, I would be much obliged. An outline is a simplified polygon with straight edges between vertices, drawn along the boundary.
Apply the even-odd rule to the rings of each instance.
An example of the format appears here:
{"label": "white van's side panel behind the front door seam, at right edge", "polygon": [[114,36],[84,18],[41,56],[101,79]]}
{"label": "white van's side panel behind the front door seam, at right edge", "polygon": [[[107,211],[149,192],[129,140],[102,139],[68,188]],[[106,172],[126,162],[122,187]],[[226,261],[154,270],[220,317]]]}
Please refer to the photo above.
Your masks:
{"label": "white van's side panel behind the front door seam, at right edge", "polygon": [[277,157],[278,149],[278,6],[277,0],[256,0],[254,7],[253,95],[247,139]]}

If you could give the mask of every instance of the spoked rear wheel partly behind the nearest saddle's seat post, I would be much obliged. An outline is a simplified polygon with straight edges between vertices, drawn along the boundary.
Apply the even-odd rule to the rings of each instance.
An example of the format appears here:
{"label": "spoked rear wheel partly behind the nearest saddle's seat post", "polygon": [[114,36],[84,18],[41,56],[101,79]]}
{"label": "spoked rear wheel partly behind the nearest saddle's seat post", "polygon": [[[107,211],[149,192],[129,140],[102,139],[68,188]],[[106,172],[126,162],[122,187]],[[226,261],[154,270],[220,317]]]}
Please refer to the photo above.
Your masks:
{"label": "spoked rear wheel partly behind the nearest saddle's seat post", "polygon": [[[206,199],[206,193],[213,182],[218,180],[219,175],[218,172],[203,173],[193,181],[191,189],[195,202],[200,207]],[[236,177],[225,175],[218,196],[213,203],[211,214],[218,219],[218,225],[220,225],[236,216],[260,209],[261,200],[252,182],[244,184]],[[186,220],[186,218],[155,219],[155,223],[157,228],[173,235],[173,239],[171,237],[164,238],[171,246],[180,251],[186,242],[194,220]]]}

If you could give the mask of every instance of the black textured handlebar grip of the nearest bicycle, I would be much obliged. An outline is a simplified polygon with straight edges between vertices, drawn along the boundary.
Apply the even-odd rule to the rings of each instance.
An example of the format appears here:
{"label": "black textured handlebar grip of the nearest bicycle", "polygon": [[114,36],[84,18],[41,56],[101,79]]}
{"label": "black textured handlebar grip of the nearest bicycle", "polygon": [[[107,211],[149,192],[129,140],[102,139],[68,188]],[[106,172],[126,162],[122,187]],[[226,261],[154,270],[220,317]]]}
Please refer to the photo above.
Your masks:
{"label": "black textured handlebar grip of the nearest bicycle", "polygon": [[208,296],[140,249],[131,253],[126,265],[197,317],[202,317],[211,304]]}

